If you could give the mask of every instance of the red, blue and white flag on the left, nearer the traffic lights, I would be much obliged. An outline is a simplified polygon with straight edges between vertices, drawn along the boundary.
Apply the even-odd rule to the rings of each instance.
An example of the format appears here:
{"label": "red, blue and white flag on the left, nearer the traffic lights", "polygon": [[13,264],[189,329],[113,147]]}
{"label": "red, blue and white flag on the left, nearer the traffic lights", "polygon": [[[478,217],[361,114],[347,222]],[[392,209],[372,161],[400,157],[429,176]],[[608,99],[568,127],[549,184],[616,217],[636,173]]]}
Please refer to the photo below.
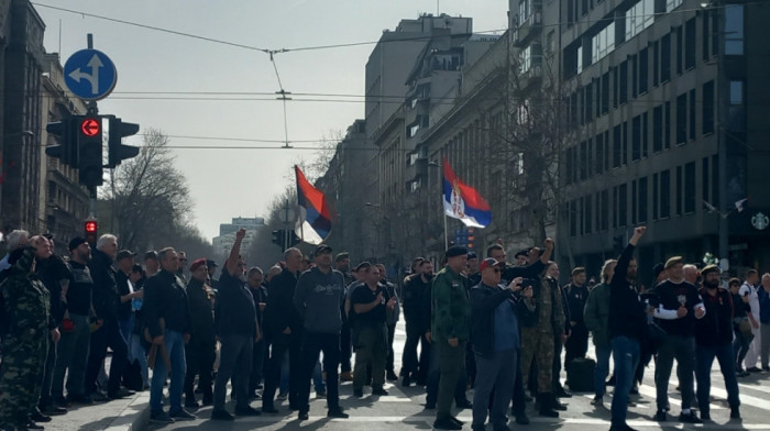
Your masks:
{"label": "red, blue and white flag on the left, nearer the traffic lights", "polygon": [[312,187],[299,166],[294,167],[297,175],[297,235],[308,244],[318,245],[331,233],[331,212],[321,190]]}

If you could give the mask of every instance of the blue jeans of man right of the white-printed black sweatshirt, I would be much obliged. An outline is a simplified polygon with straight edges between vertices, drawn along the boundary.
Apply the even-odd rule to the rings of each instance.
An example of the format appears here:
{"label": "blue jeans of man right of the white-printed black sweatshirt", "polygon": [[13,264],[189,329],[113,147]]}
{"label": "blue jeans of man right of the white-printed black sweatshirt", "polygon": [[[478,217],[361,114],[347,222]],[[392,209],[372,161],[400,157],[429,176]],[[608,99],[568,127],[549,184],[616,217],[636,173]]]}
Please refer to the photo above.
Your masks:
{"label": "blue jeans of man right of the white-printed black sweatshirt", "polygon": [[727,402],[730,407],[740,406],[738,398],[738,379],[735,376],[735,363],[733,358],[733,345],[723,344],[715,346],[698,345],[695,349],[695,377],[697,378],[697,400],[701,415],[708,413],[708,401],[712,389],[712,365],[714,357],[719,363],[719,369],[725,378],[727,389]]}

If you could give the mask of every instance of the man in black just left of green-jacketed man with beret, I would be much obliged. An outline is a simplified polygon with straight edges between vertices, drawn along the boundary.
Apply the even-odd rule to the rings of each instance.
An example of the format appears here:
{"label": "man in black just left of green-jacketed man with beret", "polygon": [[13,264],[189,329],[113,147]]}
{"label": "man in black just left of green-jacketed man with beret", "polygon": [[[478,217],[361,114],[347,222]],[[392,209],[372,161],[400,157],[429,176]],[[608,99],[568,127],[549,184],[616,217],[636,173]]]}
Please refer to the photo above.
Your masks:
{"label": "man in black just left of green-jacketed man with beret", "polygon": [[[430,284],[433,278],[433,264],[422,257],[415,259],[415,274],[407,277],[404,288],[404,318],[406,319],[406,343],[402,353],[402,385],[413,382],[422,386],[428,378],[430,364]],[[420,345],[419,362],[417,345]]]}

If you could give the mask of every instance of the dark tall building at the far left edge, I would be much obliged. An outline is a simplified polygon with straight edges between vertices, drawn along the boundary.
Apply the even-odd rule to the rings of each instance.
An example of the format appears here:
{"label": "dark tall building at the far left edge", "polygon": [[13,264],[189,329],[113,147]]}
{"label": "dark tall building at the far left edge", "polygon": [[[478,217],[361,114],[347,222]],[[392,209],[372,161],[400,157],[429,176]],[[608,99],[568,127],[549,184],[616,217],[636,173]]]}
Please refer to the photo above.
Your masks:
{"label": "dark tall building at the far left edge", "polygon": [[38,232],[45,24],[29,0],[0,4],[0,223]]}

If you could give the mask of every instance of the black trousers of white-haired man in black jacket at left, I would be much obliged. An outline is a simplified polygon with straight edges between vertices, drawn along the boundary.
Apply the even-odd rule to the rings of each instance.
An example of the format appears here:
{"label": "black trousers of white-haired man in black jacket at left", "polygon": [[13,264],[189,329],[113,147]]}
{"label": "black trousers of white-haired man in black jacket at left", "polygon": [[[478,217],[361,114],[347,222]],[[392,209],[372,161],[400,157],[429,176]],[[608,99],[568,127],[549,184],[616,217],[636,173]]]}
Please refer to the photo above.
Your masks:
{"label": "black trousers of white-haired man in black jacket at left", "polygon": [[107,347],[112,350],[110,363],[110,378],[107,385],[108,394],[117,394],[120,389],[120,379],[123,368],[129,362],[129,346],[117,320],[105,319],[105,323],[96,332],[91,332],[88,351],[88,365],[86,366],[86,394],[97,390],[97,377],[107,357]]}

